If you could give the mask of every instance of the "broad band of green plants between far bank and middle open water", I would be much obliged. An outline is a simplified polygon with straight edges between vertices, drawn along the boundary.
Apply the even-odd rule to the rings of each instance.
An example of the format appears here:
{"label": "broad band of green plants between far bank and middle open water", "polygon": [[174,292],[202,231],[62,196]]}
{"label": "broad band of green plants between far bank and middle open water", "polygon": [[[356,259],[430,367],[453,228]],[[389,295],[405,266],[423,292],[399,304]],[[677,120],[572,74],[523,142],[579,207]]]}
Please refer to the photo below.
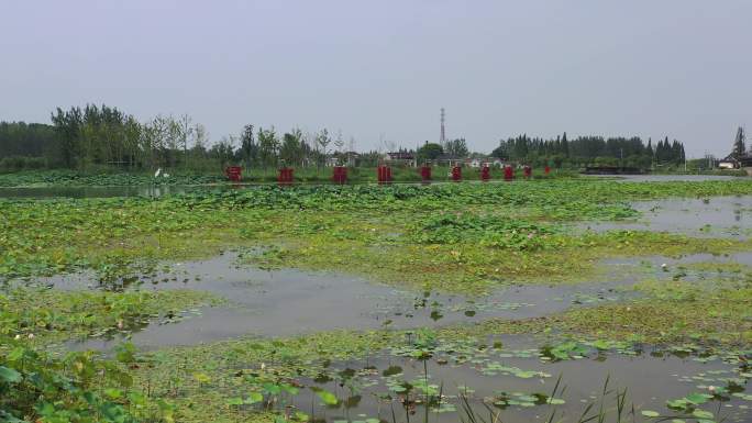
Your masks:
{"label": "broad band of green plants between far bank and middle open water", "polygon": [[[516,252],[538,249],[542,245],[576,248],[595,241],[579,235],[556,234],[559,231],[551,223],[634,216],[634,211],[624,203],[627,200],[750,192],[752,182],[747,180],[624,183],[561,179],[439,186],[264,186],[198,191],[157,200],[0,201],[0,277],[55,272],[76,267],[101,268],[131,263],[139,257],[200,256],[237,243],[300,243],[309,238],[308,242],[320,245],[322,252],[329,251],[325,245],[342,242],[352,243],[353,253],[364,249],[365,254],[367,246],[377,242],[405,249],[384,249],[385,256],[376,259],[379,257],[376,254],[371,264],[380,259],[388,263],[389,255],[398,257],[395,265],[402,259],[407,265],[409,257],[412,257],[424,260],[427,267],[440,257],[449,260],[442,266],[454,263],[452,266],[456,267],[457,263],[469,260],[477,265],[478,275],[474,278],[484,280],[482,269],[500,266],[513,270],[521,265],[518,260],[538,260],[533,267],[537,268],[546,260],[555,259],[555,256],[544,259],[520,255],[516,260],[504,260],[501,253],[499,257],[484,255],[486,247],[480,244]],[[432,213],[473,209],[478,210],[462,218]],[[502,215],[505,218],[500,218]],[[420,235],[421,231],[417,232],[420,243],[429,243],[420,249],[412,248],[410,238],[389,235],[407,234],[414,232],[411,227],[432,227],[436,224],[442,227],[433,234]],[[309,225],[311,231],[307,229]],[[493,231],[488,231],[490,229]],[[529,237],[531,234],[533,236]],[[548,238],[537,235],[546,235]],[[644,235],[635,236],[635,240],[648,241]],[[604,248],[613,242],[629,243],[628,238],[619,236],[596,236],[595,240],[600,240],[596,244]],[[467,246],[460,261],[450,251],[443,252],[445,248],[452,249],[451,244],[457,241],[463,241],[463,245]],[[653,245],[663,244],[654,240]],[[436,255],[435,248],[446,256]],[[331,249],[334,251],[336,248]],[[477,257],[473,252],[477,253]],[[309,254],[287,254],[286,257],[316,261],[316,255]],[[344,256],[336,258],[329,254],[322,254],[319,258],[331,259],[332,266],[346,261]],[[316,266],[314,263],[309,265]],[[524,268],[530,268],[530,265],[526,264]],[[463,265],[456,269],[465,271],[466,268]],[[560,271],[566,269],[561,268]],[[424,278],[430,275],[425,274]]]}

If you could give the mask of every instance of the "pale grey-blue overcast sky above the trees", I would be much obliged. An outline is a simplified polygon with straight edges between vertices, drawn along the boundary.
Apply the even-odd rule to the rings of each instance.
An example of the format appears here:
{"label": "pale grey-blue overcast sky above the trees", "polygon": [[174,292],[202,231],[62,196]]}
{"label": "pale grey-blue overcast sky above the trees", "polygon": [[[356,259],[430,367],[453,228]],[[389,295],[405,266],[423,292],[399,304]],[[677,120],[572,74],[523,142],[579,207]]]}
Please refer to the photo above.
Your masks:
{"label": "pale grey-blue overcast sky above the trees", "polygon": [[726,155],[752,124],[752,1],[0,0],[0,120],[87,102],[188,113],[212,140],[412,147],[444,107],[474,151],[566,131]]}

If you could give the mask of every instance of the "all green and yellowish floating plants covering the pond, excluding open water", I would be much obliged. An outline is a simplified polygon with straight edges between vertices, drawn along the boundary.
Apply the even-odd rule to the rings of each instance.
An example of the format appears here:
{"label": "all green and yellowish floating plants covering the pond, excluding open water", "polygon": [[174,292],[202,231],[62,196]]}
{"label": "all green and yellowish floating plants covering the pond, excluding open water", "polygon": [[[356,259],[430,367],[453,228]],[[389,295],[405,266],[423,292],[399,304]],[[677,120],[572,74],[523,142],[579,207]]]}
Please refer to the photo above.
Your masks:
{"label": "all green and yellowish floating plants covering the pond, excluding open water", "polygon": [[[444,383],[432,375],[446,367],[466,366],[478,377],[551,383],[553,371],[545,368],[555,366],[551,363],[601,359],[617,353],[632,356],[643,354],[643,348],[663,354],[648,349],[644,342],[665,344],[666,355],[700,363],[723,359],[740,369],[703,377],[701,383],[714,386],[714,392],[697,387],[684,397],[668,398],[667,413],[653,404],[657,415],[646,409],[630,410],[627,391],[607,383],[601,392],[607,400],[584,405],[583,419],[652,421],[664,414],[687,421],[720,419],[718,412],[707,414],[716,401],[749,401],[739,386],[749,379],[749,369],[741,369],[741,363],[752,359],[747,352],[752,334],[750,278],[744,269],[720,272],[710,266],[681,267],[674,261],[667,261],[671,266],[665,272],[643,269],[656,274],[650,276],[656,280],[639,283],[632,292],[635,299],[613,296],[618,298],[607,302],[579,296],[577,301],[588,307],[541,319],[490,320],[411,333],[385,329],[235,339],[146,357],[123,344],[111,359],[76,353],[66,361],[66,356],[46,349],[71,335],[128,336],[140,325],[177,320],[181,310],[204,303],[201,293],[189,290],[133,291],[148,275],[158,274],[155,264],[161,260],[206,257],[245,246],[255,247],[245,259],[266,267],[342,269],[403,288],[479,293],[511,281],[574,281],[593,275],[593,264],[604,257],[749,249],[745,241],[646,231],[583,233],[565,223],[633,218],[630,200],[750,192],[752,183],[744,180],[693,185],[555,180],[263,187],[162,199],[0,201],[0,278],[91,269],[102,281],[101,287],[86,291],[26,287],[0,296],[0,389],[4,389],[0,401],[5,400],[0,402],[4,413],[0,421],[44,421],[43,412],[53,421],[69,412],[78,413],[81,422],[110,416],[124,422],[131,416],[165,422],[176,418],[302,422],[314,421],[316,412],[322,410],[344,410],[349,421],[368,421],[369,416],[351,419],[346,413],[361,396],[372,392],[384,403],[405,405],[405,419],[416,419],[410,413],[424,407],[422,418],[430,420],[435,412],[464,407],[464,400],[450,398]],[[11,285],[25,282],[33,286],[34,279]],[[439,304],[430,296],[418,297],[416,307],[436,320],[450,312],[472,314],[488,310],[485,307],[516,310],[523,305]],[[545,344],[504,349],[499,339],[507,333],[542,334]],[[20,354],[14,353],[20,343],[27,350],[24,364],[13,358]],[[381,354],[402,361],[399,366],[390,363],[378,376],[379,369],[367,363],[368,357]],[[523,358],[531,359],[530,366],[512,365]],[[90,361],[81,364],[87,369],[82,374],[77,372],[78,359]],[[365,360],[366,365],[354,371],[330,367],[338,359]],[[405,376],[403,363],[413,364],[414,371]],[[44,378],[53,382],[44,388],[49,396],[41,396],[33,385],[35,369],[43,365],[48,371]],[[106,377],[100,378],[102,371]],[[123,380],[108,378],[115,375]],[[331,380],[319,386],[311,382],[317,376]],[[693,378],[679,381],[699,383]],[[68,383],[80,396],[69,392]],[[384,389],[372,383],[383,383]],[[464,388],[475,413],[471,418],[462,412],[468,421],[500,421],[502,407],[551,411],[565,401],[559,392],[512,390],[499,383],[499,390],[489,394],[494,401],[487,401],[487,409],[483,400],[471,396],[471,387]],[[313,398],[316,412],[303,413],[296,407],[303,394]],[[49,401],[52,408],[41,401]],[[569,398],[566,401],[573,405]],[[213,411],[199,410],[199,404]],[[86,414],[81,411],[86,407],[87,412],[99,414]]]}

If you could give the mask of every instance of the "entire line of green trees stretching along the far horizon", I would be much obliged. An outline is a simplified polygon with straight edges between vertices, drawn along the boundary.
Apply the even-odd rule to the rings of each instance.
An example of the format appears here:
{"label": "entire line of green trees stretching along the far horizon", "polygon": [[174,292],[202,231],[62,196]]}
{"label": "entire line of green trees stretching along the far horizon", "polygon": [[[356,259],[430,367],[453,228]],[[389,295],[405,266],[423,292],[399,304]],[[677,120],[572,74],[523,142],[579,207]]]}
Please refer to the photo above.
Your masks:
{"label": "entire line of green trees stretching along the far horizon", "polygon": [[[375,166],[378,152],[355,153],[355,140],[327,129],[303,133],[299,129],[277,132],[273,126],[247,124],[239,135],[211,143],[203,125],[191,118],[157,115],[139,122],[133,115],[106,104],[57,108],[52,124],[0,122],[0,169],[22,168],[120,168],[143,170],[185,168],[217,170],[230,164],[246,167]],[[388,146],[391,151],[396,148]],[[414,149],[400,148],[420,160],[486,157],[471,153],[465,138],[443,145],[425,143]],[[684,145],[667,137],[653,144],[639,137],[579,136],[566,133],[544,140],[519,135],[501,140],[490,156],[505,160],[556,167],[612,165],[649,168],[685,160]]]}

